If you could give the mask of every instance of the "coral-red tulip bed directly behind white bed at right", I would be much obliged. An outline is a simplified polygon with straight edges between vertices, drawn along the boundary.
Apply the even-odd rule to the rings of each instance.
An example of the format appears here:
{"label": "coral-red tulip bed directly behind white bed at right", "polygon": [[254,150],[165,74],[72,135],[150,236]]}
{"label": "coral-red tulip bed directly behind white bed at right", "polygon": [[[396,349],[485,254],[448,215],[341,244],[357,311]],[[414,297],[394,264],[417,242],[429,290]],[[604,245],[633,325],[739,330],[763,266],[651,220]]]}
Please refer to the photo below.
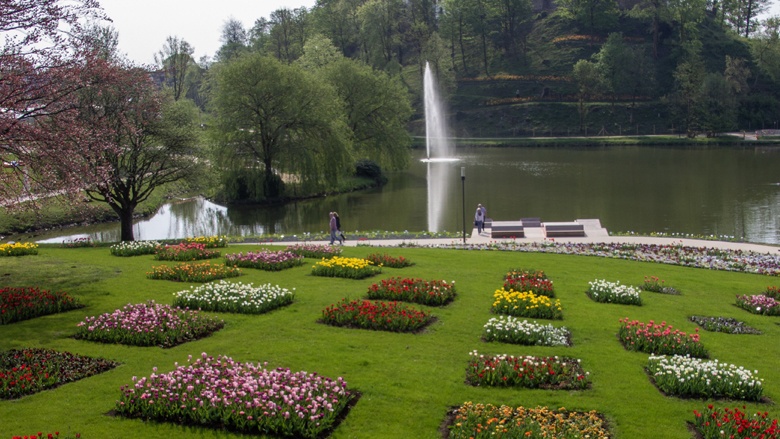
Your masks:
{"label": "coral-red tulip bed directly behind white bed at right", "polygon": [[696,328],[693,334],[686,334],[666,322],[658,325],[652,320],[642,323],[626,317],[621,319],[620,323],[618,339],[626,350],[657,355],[690,355],[697,358],[708,356],[699,340],[699,328]]}

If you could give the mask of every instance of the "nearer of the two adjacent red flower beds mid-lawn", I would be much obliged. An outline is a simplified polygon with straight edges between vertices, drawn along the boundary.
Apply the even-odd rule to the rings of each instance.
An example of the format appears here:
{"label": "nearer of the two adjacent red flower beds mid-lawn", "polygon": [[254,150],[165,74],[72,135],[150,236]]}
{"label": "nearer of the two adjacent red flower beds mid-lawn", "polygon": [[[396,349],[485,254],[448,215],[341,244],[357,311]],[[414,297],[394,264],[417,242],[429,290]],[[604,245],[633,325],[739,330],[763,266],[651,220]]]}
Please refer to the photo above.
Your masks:
{"label": "nearer of the two adjacent red flower beds mid-lawn", "polygon": [[322,310],[322,322],[328,325],[377,331],[414,332],[432,321],[430,313],[399,302],[342,299]]}

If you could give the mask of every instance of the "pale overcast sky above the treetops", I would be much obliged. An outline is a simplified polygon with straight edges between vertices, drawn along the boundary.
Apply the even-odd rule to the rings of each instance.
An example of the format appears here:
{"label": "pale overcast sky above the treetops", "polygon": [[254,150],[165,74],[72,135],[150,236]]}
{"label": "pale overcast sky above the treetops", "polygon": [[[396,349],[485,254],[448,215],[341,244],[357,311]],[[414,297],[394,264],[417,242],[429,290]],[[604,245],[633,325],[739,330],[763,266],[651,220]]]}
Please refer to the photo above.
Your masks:
{"label": "pale overcast sky above the treetops", "polygon": [[[235,18],[249,29],[260,17],[287,7],[311,9],[316,0],[99,0],[119,32],[119,50],[138,64],[154,63],[168,36],[195,48],[195,59],[219,49],[222,25]],[[771,1],[770,15],[780,15],[780,0]]]}

